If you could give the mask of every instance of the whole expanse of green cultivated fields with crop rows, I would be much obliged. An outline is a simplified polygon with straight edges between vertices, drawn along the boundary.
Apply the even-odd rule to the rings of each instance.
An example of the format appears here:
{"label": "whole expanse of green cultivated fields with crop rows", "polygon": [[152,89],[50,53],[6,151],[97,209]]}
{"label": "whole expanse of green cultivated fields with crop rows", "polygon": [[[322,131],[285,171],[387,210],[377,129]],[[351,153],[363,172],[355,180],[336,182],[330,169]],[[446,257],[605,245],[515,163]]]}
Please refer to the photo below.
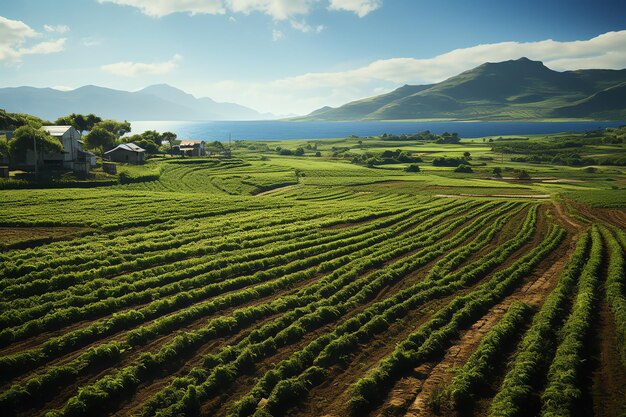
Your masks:
{"label": "whole expanse of green cultivated fields with crop rows", "polygon": [[0,190],[2,415],[623,415],[623,133],[237,142]]}

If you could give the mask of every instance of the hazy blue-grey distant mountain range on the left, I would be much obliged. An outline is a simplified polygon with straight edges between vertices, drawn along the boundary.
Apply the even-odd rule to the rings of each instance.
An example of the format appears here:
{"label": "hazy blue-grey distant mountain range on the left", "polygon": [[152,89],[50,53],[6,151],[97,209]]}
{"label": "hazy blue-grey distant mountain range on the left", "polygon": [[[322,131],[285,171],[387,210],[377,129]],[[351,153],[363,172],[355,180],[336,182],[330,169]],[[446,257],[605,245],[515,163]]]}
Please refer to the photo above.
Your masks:
{"label": "hazy blue-grey distant mountain range on the left", "polygon": [[276,118],[234,103],[196,98],[167,84],[130,92],[87,85],[53,88],[0,88],[0,108],[55,120],[70,113],[94,113],[115,120],[263,120]]}

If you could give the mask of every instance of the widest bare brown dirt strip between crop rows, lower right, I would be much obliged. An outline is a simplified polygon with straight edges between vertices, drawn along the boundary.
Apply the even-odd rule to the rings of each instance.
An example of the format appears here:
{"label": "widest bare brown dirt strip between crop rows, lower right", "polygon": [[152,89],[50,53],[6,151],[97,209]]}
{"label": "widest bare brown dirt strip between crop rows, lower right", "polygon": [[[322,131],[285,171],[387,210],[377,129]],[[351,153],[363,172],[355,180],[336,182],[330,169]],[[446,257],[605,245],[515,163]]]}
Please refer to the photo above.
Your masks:
{"label": "widest bare brown dirt strip between crop rows, lower right", "polygon": [[[396,390],[397,397],[391,399],[389,406],[391,409],[401,408],[406,398],[406,393],[402,390],[408,389],[409,392],[416,393],[413,402],[409,405],[405,417],[430,416],[434,415],[429,406],[429,402],[437,391],[441,390],[452,379],[452,370],[455,367],[462,366],[467,362],[471,354],[476,350],[482,338],[491,330],[491,328],[502,318],[508,310],[511,303],[515,300],[525,302],[534,307],[540,307],[545,299],[548,291],[554,286],[558,275],[567,263],[575,248],[575,239],[569,241],[569,246],[564,250],[557,249],[552,255],[542,263],[533,274],[531,279],[512,296],[508,297],[500,304],[494,306],[480,320],[472,325],[466,331],[454,346],[448,349],[445,357],[437,364],[425,364],[415,369],[416,377],[407,378],[403,381],[403,386],[398,386]],[[549,265],[549,267],[548,267]],[[545,270],[544,268],[548,268]],[[542,271],[545,272],[539,272]],[[422,376],[420,378],[419,376]],[[403,404],[404,403],[404,404]],[[406,407],[406,405],[404,405]],[[385,410],[381,415],[398,415],[398,413],[390,413],[391,410]]]}

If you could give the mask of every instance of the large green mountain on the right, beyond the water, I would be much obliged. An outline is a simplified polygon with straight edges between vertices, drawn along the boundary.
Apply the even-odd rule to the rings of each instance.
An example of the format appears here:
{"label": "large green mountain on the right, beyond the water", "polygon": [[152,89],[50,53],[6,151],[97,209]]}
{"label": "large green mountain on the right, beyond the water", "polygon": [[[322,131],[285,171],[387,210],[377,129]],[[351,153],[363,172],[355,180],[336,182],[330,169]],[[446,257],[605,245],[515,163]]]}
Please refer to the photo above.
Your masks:
{"label": "large green mountain on the right, beyond the water", "polygon": [[626,69],[558,72],[528,58],[485,63],[437,84],[323,107],[300,121],[626,120]]}

